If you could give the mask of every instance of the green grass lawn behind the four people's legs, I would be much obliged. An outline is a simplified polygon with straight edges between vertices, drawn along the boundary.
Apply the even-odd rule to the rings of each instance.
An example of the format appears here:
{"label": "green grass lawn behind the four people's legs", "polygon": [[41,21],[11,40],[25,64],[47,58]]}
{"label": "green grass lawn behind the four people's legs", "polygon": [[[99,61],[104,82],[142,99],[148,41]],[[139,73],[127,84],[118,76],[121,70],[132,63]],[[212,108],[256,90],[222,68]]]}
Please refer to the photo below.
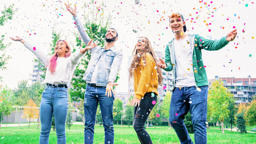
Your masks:
{"label": "green grass lawn behind the four people's legs", "polygon": [[[138,137],[133,127],[130,126],[114,126],[115,144],[139,144]],[[147,128],[147,132],[152,138],[153,144],[180,144],[174,129],[168,127],[161,128]],[[250,130],[248,130],[250,131]],[[38,144],[40,130],[37,129],[37,124],[17,127],[2,127],[0,129],[0,144]],[[225,130],[225,134],[221,133],[219,129],[210,127],[207,134],[208,144],[256,144],[256,133],[240,134],[239,132],[231,132]],[[4,138],[3,138],[4,137]],[[194,141],[194,134],[190,134],[192,141]],[[1,139],[2,138],[2,139]],[[72,125],[70,130],[66,127],[67,144],[83,144],[84,143],[84,126]],[[56,132],[50,133],[50,144],[56,144]],[[104,128],[103,126],[95,126],[94,130],[94,144],[104,144]]]}

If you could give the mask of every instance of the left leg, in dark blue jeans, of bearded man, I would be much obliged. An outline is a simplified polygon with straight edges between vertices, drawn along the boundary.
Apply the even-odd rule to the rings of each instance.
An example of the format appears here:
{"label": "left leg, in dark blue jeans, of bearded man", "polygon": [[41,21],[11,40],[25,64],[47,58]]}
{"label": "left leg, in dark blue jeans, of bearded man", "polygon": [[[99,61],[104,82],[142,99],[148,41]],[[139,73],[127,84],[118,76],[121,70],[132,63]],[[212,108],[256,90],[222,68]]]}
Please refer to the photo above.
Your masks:
{"label": "left leg, in dark blue jeans, of bearded man", "polygon": [[98,98],[96,95],[96,88],[86,86],[84,94],[84,144],[93,143],[97,106]]}

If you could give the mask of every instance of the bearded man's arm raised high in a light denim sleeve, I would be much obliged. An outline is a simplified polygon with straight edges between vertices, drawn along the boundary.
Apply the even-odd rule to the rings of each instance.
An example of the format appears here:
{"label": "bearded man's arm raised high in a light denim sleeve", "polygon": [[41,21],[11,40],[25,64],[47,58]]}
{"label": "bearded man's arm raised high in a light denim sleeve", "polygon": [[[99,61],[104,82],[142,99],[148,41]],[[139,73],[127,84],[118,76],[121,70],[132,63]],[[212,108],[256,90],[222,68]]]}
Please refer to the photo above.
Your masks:
{"label": "bearded man's arm raised high in a light denim sleeve", "polygon": [[[83,26],[82,22],[76,15],[76,5],[75,5],[74,9],[70,6],[70,4],[68,4],[68,5],[65,4],[65,5],[66,5],[66,8],[68,9],[68,11],[70,12],[70,14],[73,15],[78,32],[79,32],[80,36],[82,37],[84,43],[87,45],[88,42],[90,42],[91,38],[88,36],[86,31],[84,30],[84,26]],[[90,51],[92,52],[93,50],[90,49]]]}

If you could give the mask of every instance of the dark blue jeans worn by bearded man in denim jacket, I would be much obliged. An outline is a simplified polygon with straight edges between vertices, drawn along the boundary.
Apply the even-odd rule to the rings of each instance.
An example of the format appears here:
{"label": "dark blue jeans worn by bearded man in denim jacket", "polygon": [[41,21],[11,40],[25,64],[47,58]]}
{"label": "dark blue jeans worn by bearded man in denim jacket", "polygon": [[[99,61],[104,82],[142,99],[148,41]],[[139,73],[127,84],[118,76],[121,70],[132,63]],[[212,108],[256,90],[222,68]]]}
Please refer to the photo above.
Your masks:
{"label": "dark blue jeans worn by bearded man in denim jacket", "polygon": [[84,144],[92,144],[98,102],[105,130],[105,144],[114,144],[113,104],[112,97],[105,96],[106,87],[86,86],[84,94]]}

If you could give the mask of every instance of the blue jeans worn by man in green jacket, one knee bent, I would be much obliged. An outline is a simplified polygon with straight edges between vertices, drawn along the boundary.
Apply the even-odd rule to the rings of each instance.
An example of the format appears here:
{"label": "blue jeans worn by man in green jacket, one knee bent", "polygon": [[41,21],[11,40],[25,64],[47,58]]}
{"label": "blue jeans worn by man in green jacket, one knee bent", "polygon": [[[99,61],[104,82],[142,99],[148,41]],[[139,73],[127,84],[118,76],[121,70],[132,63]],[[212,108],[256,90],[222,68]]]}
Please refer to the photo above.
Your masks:
{"label": "blue jeans worn by man in green jacket, one knee bent", "polygon": [[190,110],[196,144],[207,143],[206,115],[208,86],[174,88],[170,104],[169,121],[172,124],[181,144],[193,144],[183,122]]}

